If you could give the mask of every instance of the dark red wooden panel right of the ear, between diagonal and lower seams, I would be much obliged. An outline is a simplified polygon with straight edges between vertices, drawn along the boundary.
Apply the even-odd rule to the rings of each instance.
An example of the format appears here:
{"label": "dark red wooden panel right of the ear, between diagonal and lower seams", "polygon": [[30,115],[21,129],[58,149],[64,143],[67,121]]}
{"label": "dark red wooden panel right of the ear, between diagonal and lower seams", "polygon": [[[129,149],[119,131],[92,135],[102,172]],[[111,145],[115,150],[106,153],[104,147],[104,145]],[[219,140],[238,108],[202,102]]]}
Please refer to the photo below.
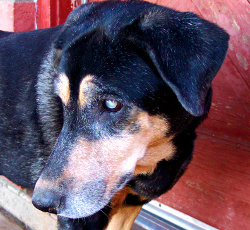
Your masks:
{"label": "dark red wooden panel right of the ear, between diagonal and lower seams", "polygon": [[238,144],[249,144],[249,87],[227,57],[213,81],[208,119],[199,130]]}

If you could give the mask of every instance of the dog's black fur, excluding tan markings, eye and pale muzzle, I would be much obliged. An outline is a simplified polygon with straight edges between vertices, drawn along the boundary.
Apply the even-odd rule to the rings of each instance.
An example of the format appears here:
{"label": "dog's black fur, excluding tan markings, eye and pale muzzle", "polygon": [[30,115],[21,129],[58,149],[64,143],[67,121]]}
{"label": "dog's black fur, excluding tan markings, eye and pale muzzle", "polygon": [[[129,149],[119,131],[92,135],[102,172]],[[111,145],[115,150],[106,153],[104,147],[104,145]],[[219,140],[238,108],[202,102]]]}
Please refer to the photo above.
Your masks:
{"label": "dog's black fur, excluding tan markings, eye and pale muzzle", "polygon": [[[208,114],[211,81],[225,58],[229,36],[192,13],[147,2],[108,1],[80,6],[62,26],[0,32],[0,39],[0,173],[28,188],[34,188],[42,171],[46,179],[60,177],[76,133],[90,142],[120,135],[131,122],[132,103],[167,118],[171,129],[166,135],[175,135],[176,146],[174,157],[160,161],[152,174],[117,182],[119,189],[128,182],[138,194],[124,202],[139,205],[171,189],[187,168],[195,129]],[[54,89],[62,72],[73,92],[69,106]],[[87,74],[98,77],[100,101],[122,101],[119,114],[101,113],[98,101],[77,109],[79,83]],[[102,115],[93,116],[97,113]],[[132,124],[131,133],[139,128]],[[67,186],[62,184],[61,190]],[[103,229],[109,212],[106,206],[84,219],[60,217],[59,227]]]}

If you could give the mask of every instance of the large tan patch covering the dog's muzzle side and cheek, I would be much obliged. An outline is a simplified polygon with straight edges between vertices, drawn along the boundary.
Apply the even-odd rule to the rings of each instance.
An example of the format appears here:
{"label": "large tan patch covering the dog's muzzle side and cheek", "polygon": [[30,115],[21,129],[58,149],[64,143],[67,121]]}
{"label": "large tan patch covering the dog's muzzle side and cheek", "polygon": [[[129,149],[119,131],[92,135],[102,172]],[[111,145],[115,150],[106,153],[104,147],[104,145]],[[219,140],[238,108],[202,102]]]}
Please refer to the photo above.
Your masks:
{"label": "large tan patch covering the dog's muzzle side and cheek", "polygon": [[[131,120],[118,136],[96,141],[79,137],[61,179],[74,179],[76,186],[105,180],[105,193],[113,193],[126,184],[127,175],[151,172],[157,162],[172,157],[174,147],[171,138],[165,136],[169,129],[165,118],[140,111]],[[134,124],[137,128],[131,132]]]}

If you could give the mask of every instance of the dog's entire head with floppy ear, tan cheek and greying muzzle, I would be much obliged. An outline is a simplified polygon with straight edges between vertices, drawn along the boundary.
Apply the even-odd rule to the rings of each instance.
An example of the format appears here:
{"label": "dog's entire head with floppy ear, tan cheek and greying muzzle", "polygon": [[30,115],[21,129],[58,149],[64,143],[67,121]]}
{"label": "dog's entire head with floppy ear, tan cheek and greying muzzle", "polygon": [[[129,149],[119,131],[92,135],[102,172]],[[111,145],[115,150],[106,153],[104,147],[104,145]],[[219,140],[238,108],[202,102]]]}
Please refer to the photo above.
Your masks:
{"label": "dog's entire head with floppy ear, tan cheek and greying muzzle", "polygon": [[174,157],[173,137],[204,114],[227,41],[192,13],[146,2],[73,11],[52,61],[63,127],[34,204],[70,218],[92,215],[134,175]]}

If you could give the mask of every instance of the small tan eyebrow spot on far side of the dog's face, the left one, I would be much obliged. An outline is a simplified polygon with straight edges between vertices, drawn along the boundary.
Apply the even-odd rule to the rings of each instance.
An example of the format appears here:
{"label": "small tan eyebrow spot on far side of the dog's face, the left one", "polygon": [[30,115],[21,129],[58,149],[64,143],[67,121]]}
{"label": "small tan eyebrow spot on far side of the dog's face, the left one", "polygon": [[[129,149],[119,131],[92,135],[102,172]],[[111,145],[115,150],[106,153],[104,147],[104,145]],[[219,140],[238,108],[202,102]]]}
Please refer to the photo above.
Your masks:
{"label": "small tan eyebrow spot on far side of the dog's face, the left one", "polygon": [[69,79],[65,73],[59,75],[59,83],[57,85],[58,95],[65,105],[68,105],[70,100]]}

